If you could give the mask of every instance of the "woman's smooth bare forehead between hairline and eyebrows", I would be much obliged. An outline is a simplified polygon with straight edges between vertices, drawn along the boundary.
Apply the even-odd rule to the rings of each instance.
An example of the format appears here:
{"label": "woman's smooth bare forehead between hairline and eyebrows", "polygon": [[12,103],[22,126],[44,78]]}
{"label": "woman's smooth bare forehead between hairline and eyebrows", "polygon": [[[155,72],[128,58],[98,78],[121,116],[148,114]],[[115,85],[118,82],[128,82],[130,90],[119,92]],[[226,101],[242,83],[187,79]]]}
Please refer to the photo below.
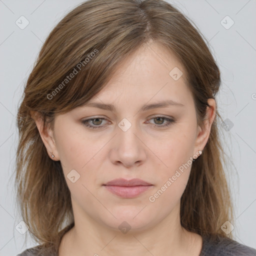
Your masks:
{"label": "woman's smooth bare forehead between hairline and eyebrows", "polygon": [[108,83],[90,101],[134,104],[172,99],[184,104],[191,96],[178,58],[164,46],[150,44],[120,62]]}

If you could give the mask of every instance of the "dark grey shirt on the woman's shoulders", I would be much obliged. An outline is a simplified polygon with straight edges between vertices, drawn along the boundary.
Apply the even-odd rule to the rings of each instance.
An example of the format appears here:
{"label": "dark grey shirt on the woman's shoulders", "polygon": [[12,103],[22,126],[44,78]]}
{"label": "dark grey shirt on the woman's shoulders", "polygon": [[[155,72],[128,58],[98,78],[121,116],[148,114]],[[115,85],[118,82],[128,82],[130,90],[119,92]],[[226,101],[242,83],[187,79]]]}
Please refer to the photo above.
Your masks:
{"label": "dark grey shirt on the woman's shoulders", "polygon": [[[227,237],[218,237],[211,241],[202,237],[202,249],[198,256],[256,256],[256,249],[241,244]],[[39,245],[24,250],[17,256],[57,256],[56,254],[40,254]]]}

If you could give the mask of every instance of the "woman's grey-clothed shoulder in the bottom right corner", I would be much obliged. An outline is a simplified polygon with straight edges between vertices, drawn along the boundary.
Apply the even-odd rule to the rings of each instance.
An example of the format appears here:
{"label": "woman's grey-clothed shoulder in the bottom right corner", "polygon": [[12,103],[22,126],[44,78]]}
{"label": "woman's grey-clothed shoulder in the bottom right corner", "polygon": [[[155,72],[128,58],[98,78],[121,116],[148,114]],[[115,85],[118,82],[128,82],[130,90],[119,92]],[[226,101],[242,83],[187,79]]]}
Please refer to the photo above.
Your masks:
{"label": "woman's grey-clothed shoulder in the bottom right corner", "polygon": [[215,240],[203,237],[202,250],[199,256],[256,256],[256,249],[241,244],[228,237],[218,236]]}

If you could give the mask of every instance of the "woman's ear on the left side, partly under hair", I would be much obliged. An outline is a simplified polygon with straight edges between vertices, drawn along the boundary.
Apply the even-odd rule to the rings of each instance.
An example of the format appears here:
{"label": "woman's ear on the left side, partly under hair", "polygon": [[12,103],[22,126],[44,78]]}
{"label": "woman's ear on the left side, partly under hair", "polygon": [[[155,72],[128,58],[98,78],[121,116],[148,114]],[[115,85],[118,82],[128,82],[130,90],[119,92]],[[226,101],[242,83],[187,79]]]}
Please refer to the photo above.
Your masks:
{"label": "woman's ear on the left side, partly under hair", "polygon": [[[36,123],[37,129],[40,133],[42,142],[47,149],[47,153],[49,157],[52,160],[58,161],[59,156],[58,156],[56,143],[53,137],[53,130],[50,128],[49,124],[48,125],[45,124],[46,126],[43,125],[43,119],[40,113],[38,113],[37,111],[30,111],[30,114]],[[52,157],[52,154],[54,155],[54,157]]]}

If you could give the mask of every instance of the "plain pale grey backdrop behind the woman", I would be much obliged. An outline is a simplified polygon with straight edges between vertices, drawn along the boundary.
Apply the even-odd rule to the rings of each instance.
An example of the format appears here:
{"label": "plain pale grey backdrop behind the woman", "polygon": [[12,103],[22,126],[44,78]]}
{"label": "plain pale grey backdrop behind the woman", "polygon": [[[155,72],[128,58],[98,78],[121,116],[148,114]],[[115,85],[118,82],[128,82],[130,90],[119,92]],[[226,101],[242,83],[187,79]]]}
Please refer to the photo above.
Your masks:
{"label": "plain pale grey backdrop behind the woman", "polygon": [[[0,256],[36,245],[16,228],[14,161],[17,107],[24,83],[50,30],[81,0],[0,0]],[[256,248],[256,1],[176,0],[199,28],[221,71],[217,107],[225,151],[233,161],[230,187],[235,204],[235,240]],[[16,20],[29,22],[21,29]],[[228,17],[227,17],[228,16]],[[223,141],[224,141],[223,138]],[[230,173],[232,174],[230,176]]]}

